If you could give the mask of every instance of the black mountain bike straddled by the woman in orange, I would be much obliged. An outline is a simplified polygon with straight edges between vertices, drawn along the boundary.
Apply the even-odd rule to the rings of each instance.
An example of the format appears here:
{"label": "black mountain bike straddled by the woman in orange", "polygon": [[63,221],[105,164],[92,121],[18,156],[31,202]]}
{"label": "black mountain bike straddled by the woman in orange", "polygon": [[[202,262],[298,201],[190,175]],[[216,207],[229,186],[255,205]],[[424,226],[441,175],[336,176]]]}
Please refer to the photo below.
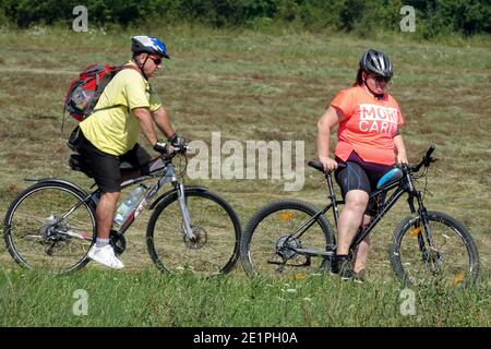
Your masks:
{"label": "black mountain bike straddled by the woman in orange", "polygon": [[[451,216],[427,210],[423,195],[415,186],[416,180],[426,177],[430,165],[436,161],[431,157],[433,151],[434,146],[431,146],[416,166],[403,165],[397,170],[399,176],[379,183],[382,185],[369,195],[369,200],[379,203],[379,213],[359,229],[349,255],[352,258],[360,242],[406,193],[410,216],[396,227],[390,249],[391,264],[397,277],[406,285],[424,281],[471,285],[479,274],[479,256],[472,237]],[[324,173],[320,161],[311,160],[308,165]],[[421,168],[424,171],[417,174]],[[328,204],[324,208],[287,200],[266,205],[251,218],[240,245],[241,262],[249,275],[297,274],[299,268],[312,273],[331,269],[336,239],[324,214],[332,208],[337,227],[338,205],[344,201],[336,200],[331,172],[325,173],[325,178]],[[319,257],[319,263],[314,264],[313,257]]]}

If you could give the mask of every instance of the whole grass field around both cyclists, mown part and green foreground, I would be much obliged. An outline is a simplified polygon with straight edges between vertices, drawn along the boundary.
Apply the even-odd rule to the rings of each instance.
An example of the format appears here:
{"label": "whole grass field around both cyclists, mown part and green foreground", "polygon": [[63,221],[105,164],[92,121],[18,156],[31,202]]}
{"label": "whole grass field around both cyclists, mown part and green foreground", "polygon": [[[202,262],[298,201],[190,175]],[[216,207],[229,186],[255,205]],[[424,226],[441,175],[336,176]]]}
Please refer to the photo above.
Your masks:
{"label": "whole grass field around both cyclists, mown part and green foreground", "polygon": [[[395,65],[391,92],[405,117],[402,133],[409,159],[419,160],[430,144],[436,145],[440,161],[430,170],[426,204],[471,231],[481,260],[479,285],[467,292],[417,289],[417,315],[402,316],[402,288],[393,277],[387,246],[407,214],[404,201],[372,237],[368,282],[362,286],[316,276],[250,280],[240,265],[224,279],[163,276],[146,252],[149,214],[144,213],[128,232],[122,273],[92,265],[68,277],[25,272],[0,246],[2,326],[490,325],[490,38],[418,43],[405,34],[360,39],[347,34],[197,27],[133,32],[142,31],[168,45],[172,59],[154,85],[172,124],[187,139],[209,144],[212,132],[220,132],[223,143],[303,141],[306,160],[315,156],[316,120],[336,93],[351,85],[361,53],[370,47],[388,52]],[[89,186],[83,174],[68,168],[61,101],[82,68],[95,61],[125,62],[133,32],[0,29],[2,217],[27,186],[24,178],[62,177]],[[187,183],[218,192],[244,226],[273,200],[299,198],[320,206],[325,200],[323,178],[310,168],[304,173],[303,189],[297,192],[285,191],[285,180],[188,179]],[[86,289],[89,309],[100,313],[89,310],[91,316],[74,316],[76,289]],[[120,297],[105,300],[115,293]]]}

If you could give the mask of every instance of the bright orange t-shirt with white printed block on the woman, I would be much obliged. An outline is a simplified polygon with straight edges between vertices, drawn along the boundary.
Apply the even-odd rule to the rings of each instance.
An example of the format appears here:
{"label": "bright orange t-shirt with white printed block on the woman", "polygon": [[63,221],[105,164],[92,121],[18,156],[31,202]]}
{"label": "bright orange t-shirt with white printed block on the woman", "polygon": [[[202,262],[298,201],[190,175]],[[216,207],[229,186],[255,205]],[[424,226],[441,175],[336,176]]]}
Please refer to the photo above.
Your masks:
{"label": "bright orange t-shirt with white printed block on the woman", "polygon": [[334,155],[346,161],[355,151],[364,161],[394,165],[394,136],[404,121],[391,95],[376,99],[363,86],[356,86],[343,89],[331,106],[345,115]]}

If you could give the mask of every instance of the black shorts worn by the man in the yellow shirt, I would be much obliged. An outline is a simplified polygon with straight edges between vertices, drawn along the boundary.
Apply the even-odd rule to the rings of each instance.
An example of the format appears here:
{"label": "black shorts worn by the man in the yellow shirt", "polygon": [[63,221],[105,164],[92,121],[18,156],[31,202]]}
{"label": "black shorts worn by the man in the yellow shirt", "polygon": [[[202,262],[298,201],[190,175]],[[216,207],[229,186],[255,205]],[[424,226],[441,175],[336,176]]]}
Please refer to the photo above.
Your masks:
{"label": "black shorts worn by the man in the yellow shirt", "polygon": [[147,174],[148,163],[152,159],[137,143],[130,152],[121,156],[104,153],[84,136],[82,130],[79,131],[76,151],[84,157],[84,161],[87,161],[94,180],[103,193],[121,191],[121,163],[128,163],[133,170],[140,170],[141,174]]}

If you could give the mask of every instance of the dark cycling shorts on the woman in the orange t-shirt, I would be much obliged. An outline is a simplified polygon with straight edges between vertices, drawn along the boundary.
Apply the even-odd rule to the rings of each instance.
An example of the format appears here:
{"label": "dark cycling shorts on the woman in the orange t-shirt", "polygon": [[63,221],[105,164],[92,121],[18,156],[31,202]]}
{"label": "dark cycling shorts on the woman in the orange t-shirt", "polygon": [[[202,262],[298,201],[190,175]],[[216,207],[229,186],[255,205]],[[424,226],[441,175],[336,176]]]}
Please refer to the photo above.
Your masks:
{"label": "dark cycling shorts on the woman in the orange t-shirt", "polygon": [[[344,163],[336,158],[338,163]],[[346,167],[337,168],[335,178],[340,186],[343,198],[350,190],[362,190],[370,194],[376,189],[379,180],[388,171],[392,166],[384,166],[363,161],[355,152],[348,160],[344,163]],[[385,195],[379,195],[376,200],[371,198],[364,212],[366,215],[374,216],[379,212],[380,203],[385,200]]]}

